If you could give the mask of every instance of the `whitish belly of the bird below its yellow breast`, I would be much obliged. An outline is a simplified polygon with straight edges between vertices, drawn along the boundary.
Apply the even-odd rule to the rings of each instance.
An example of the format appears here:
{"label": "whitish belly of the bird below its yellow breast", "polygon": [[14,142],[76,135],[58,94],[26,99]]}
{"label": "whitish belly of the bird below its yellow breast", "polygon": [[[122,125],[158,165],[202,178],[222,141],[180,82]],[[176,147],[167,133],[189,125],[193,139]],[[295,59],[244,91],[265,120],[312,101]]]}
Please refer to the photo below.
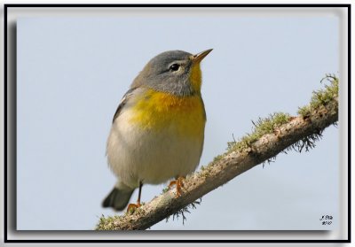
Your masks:
{"label": "whitish belly of the bird below its yellow breast", "polygon": [[108,164],[119,181],[137,188],[139,181],[159,184],[196,169],[203,136],[179,136],[173,124],[159,132],[144,129],[129,120],[130,110],[122,112],[107,140]]}

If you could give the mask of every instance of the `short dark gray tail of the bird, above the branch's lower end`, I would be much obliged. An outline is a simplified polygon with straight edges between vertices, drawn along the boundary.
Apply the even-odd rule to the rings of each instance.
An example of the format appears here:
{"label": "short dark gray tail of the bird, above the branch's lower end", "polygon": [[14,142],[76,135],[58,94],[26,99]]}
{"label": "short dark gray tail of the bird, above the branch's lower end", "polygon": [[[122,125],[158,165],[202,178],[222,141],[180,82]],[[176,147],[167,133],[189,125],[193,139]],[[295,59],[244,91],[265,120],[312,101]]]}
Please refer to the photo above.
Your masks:
{"label": "short dark gray tail of the bird, above the branch's lower end", "polygon": [[102,202],[102,206],[112,207],[114,210],[122,211],[126,205],[128,205],[133,191],[134,189],[130,189],[125,185],[122,186],[122,183],[118,183]]}

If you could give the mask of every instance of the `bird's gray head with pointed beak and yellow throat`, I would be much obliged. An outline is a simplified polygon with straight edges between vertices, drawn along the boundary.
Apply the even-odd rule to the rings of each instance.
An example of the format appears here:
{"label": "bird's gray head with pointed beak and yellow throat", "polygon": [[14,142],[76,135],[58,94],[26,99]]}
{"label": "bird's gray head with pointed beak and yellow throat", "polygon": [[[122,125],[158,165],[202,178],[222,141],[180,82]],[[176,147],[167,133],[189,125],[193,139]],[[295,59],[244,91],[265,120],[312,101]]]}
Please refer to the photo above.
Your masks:
{"label": "bird's gray head with pointed beak and yellow throat", "polygon": [[131,87],[146,87],[176,96],[200,94],[200,62],[211,50],[196,55],[183,50],[162,52],[146,64]]}

